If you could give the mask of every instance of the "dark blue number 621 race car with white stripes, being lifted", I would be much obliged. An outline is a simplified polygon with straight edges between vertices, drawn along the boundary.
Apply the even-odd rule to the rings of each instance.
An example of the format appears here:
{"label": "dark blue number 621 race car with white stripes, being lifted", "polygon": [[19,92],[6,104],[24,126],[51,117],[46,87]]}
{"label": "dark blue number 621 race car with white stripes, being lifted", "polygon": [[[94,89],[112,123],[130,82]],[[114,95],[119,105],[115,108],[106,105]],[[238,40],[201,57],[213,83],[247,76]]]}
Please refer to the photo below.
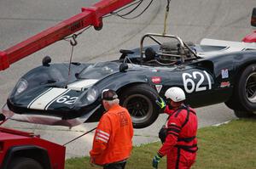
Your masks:
{"label": "dark blue number 621 race car with white stripes, being lifted", "polygon": [[[145,38],[157,44],[144,47]],[[111,88],[131,113],[134,127],[148,127],[161,111],[155,100],[165,98],[169,87],[183,88],[186,104],[192,107],[225,102],[231,109],[251,114],[256,110],[256,47],[241,45],[241,51],[233,53],[209,48],[216,45],[193,45],[177,36],[146,34],[140,48],[120,50],[117,60],[69,65],[50,64],[45,58],[43,65],[20,78],[3,114],[19,121],[70,127],[98,121],[104,111],[102,90]]]}

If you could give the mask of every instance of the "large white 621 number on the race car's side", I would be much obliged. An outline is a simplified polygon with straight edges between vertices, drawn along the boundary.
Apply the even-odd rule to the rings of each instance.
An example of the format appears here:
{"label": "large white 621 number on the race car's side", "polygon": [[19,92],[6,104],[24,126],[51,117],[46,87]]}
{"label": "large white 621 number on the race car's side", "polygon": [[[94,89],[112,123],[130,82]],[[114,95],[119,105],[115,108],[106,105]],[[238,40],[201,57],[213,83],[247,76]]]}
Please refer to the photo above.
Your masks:
{"label": "large white 621 number on the race car's side", "polygon": [[[187,93],[192,92],[200,92],[207,90],[207,87],[203,87],[202,83],[205,81],[205,76],[207,76],[207,83],[208,83],[208,89],[212,89],[212,82],[209,74],[206,70],[202,72],[200,71],[193,71],[192,73],[183,73],[183,85],[184,89]],[[198,82],[195,82],[195,79],[198,79]]]}

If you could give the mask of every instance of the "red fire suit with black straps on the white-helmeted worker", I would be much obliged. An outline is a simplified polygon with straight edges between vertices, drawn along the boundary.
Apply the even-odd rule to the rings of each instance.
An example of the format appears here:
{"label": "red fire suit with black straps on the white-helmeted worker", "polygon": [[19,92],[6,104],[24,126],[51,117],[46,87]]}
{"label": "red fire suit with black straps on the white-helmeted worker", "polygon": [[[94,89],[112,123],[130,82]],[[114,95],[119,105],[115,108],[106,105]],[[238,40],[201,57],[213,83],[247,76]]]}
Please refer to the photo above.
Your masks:
{"label": "red fire suit with black straps on the white-helmeted worker", "polygon": [[169,110],[166,141],[160,148],[160,156],[167,155],[167,169],[189,169],[195,162],[197,140],[197,116],[195,110],[182,105]]}

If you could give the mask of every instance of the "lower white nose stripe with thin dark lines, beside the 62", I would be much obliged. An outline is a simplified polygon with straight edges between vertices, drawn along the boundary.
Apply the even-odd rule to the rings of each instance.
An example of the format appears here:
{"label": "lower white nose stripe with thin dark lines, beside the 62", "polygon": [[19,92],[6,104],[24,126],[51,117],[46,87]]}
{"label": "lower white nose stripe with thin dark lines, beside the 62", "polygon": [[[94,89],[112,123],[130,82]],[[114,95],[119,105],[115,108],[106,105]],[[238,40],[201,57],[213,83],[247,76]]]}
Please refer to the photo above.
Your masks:
{"label": "lower white nose stripe with thin dark lines, beside the 62", "polygon": [[63,93],[67,93],[68,91],[70,90],[66,88],[50,88],[45,93],[32,100],[32,102],[28,104],[27,108],[44,110],[46,106],[48,108],[49,105],[55,101],[55,99],[58,99]]}

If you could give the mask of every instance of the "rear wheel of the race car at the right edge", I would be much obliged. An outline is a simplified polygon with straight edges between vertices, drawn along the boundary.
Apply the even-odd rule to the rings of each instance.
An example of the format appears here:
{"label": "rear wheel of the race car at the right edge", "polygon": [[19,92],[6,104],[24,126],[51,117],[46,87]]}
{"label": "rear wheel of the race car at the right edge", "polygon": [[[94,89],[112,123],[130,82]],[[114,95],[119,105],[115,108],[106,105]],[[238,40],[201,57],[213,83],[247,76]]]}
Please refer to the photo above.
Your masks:
{"label": "rear wheel of the race car at the right edge", "polygon": [[234,93],[225,104],[235,111],[237,117],[255,115],[256,110],[256,65],[248,65],[239,75]]}

